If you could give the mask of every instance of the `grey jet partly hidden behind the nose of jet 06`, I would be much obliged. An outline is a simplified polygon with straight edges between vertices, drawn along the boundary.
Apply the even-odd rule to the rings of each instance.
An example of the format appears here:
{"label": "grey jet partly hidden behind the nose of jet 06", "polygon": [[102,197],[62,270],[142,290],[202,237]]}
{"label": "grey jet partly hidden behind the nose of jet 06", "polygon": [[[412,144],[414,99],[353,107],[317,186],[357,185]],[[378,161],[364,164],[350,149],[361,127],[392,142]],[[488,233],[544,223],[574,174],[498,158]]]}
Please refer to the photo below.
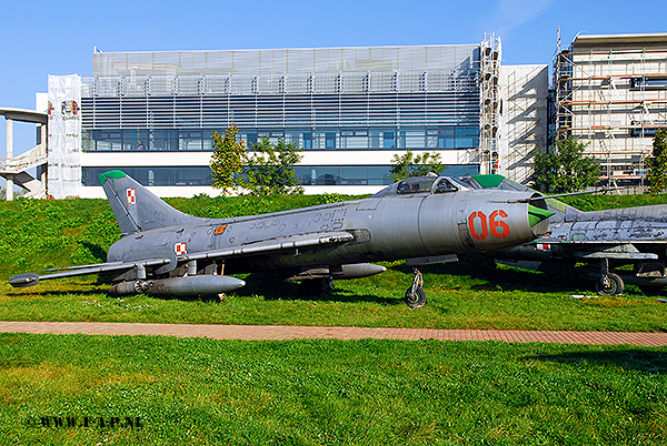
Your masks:
{"label": "grey jet partly hidden behind the nose of jet 06", "polygon": [[[501,175],[461,179],[478,190],[526,191],[522,184]],[[566,194],[567,195],[567,194]],[[667,205],[624,207],[583,212],[558,200],[546,197],[549,229],[539,239],[518,246],[489,253],[510,265],[537,270],[541,262],[600,264],[596,275],[599,294],[621,294],[625,282],[645,293],[667,285]],[[634,265],[634,271],[611,272],[610,267]]]}

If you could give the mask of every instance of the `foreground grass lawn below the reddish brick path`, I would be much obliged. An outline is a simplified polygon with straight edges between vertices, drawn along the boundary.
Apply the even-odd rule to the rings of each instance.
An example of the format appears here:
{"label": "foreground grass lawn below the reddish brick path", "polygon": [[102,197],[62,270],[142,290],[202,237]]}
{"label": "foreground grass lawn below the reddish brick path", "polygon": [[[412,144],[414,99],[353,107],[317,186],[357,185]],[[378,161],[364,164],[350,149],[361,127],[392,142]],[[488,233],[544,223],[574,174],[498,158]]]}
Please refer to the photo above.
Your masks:
{"label": "foreground grass lawn below the reddish brick path", "polygon": [[0,348],[7,445],[667,442],[665,348],[22,334]]}

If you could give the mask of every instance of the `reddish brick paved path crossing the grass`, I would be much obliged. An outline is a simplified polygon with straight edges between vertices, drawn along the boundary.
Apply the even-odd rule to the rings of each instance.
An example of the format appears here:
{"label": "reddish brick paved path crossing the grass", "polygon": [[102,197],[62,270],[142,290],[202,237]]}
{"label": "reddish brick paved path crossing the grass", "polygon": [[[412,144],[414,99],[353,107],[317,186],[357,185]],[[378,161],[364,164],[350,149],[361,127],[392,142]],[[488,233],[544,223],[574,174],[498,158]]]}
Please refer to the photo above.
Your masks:
{"label": "reddish brick paved path crossing the grass", "polygon": [[512,343],[561,344],[628,344],[666,346],[667,333],[619,332],[542,332],[492,330],[430,330],[430,328],[362,328],[315,327],[282,325],[198,325],[198,324],[130,324],[116,322],[4,322],[0,332],[106,334],[106,335],[162,335],[178,337],[210,337],[213,339],[283,341],[308,339],[441,339],[441,341],[502,341]]}

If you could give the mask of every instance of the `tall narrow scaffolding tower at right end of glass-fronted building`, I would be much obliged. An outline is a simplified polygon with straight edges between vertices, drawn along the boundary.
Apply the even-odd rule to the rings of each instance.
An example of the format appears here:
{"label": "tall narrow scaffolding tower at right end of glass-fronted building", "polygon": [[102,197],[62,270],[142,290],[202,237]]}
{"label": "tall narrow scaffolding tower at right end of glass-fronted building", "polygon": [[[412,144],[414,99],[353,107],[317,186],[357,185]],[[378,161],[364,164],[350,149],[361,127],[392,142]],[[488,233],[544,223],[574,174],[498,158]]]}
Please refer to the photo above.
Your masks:
{"label": "tall narrow scaffolding tower at right end of glass-fronted building", "polygon": [[484,174],[497,173],[500,164],[500,38],[485,33],[480,50],[479,152],[480,173]]}

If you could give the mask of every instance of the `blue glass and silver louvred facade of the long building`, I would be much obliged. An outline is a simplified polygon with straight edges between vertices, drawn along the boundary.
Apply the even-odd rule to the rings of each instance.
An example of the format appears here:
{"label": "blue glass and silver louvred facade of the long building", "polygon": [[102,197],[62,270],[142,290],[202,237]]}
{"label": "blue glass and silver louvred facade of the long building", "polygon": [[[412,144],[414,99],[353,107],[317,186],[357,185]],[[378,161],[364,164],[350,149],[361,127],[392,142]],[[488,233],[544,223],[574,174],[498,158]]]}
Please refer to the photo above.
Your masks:
{"label": "blue glass and silver louvred facade of the long building", "polygon": [[[206,152],[232,123],[249,149],[283,139],[350,152],[352,163],[355,151],[478,149],[479,83],[479,44],[96,52],[82,78],[81,149]],[[147,185],[211,183],[208,165],[120,169]],[[305,185],[384,185],[388,169],[296,166]],[[83,168],[84,185],[106,170]]]}

